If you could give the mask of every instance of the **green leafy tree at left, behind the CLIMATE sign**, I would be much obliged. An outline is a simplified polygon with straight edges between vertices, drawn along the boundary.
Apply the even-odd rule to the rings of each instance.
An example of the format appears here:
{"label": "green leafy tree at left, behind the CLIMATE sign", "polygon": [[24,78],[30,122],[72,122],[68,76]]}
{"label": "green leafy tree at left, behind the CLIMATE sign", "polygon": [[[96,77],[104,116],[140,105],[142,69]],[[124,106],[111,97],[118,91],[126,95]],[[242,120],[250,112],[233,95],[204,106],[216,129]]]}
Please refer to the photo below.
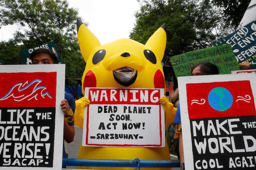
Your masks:
{"label": "green leafy tree at left, behind the CLIMATE sign", "polygon": [[[0,26],[18,24],[15,42],[23,49],[54,41],[66,64],[66,84],[76,85],[83,75],[85,62],[77,41],[78,10],[67,0],[1,0]],[[16,64],[15,62],[13,64]]]}

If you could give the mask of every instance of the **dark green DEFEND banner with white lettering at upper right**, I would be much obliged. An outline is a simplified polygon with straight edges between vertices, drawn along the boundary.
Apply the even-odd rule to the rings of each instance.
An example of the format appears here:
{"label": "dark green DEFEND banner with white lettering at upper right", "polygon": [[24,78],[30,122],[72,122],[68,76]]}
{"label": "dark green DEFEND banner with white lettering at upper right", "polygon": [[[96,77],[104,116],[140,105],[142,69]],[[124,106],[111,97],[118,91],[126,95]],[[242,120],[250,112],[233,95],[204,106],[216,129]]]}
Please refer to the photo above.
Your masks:
{"label": "dark green DEFEND banner with white lettering at upper right", "polygon": [[214,43],[214,46],[230,44],[238,63],[256,62],[256,22],[253,21],[234,33]]}

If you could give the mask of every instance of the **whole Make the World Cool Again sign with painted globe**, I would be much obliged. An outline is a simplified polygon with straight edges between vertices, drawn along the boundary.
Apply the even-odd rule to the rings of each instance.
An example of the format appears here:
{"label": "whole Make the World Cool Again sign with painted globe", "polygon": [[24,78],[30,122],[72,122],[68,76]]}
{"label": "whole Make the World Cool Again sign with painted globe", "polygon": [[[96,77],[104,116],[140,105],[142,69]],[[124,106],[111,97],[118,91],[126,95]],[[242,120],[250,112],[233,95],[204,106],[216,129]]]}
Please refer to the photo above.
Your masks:
{"label": "whole Make the World Cool Again sign with painted globe", "polygon": [[178,77],[185,168],[255,169],[256,74]]}

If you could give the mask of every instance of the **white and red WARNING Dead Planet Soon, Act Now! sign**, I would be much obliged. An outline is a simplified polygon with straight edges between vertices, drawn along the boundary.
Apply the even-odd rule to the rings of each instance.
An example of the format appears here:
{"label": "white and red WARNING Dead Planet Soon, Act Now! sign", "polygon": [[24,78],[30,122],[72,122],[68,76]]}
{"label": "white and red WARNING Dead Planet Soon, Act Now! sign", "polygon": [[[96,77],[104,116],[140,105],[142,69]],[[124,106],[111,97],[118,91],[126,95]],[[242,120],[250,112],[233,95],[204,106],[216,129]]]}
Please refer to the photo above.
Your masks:
{"label": "white and red WARNING Dead Planet Soon, Act Now! sign", "polygon": [[163,95],[164,89],[85,88],[83,146],[165,147]]}

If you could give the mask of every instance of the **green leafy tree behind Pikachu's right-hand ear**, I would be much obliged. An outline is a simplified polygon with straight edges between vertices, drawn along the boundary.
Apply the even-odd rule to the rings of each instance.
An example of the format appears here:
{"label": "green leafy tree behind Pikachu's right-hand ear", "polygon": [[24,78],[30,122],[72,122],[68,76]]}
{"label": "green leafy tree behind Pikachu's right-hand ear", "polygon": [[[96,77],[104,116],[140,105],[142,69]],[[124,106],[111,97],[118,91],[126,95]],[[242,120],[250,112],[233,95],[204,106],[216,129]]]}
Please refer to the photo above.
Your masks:
{"label": "green leafy tree behind Pikachu's right-hand ear", "polygon": [[207,48],[228,32],[223,27],[219,10],[209,0],[150,0],[139,1],[136,24],[130,38],[146,43],[163,23],[166,24],[167,44],[164,65],[170,56]]}

